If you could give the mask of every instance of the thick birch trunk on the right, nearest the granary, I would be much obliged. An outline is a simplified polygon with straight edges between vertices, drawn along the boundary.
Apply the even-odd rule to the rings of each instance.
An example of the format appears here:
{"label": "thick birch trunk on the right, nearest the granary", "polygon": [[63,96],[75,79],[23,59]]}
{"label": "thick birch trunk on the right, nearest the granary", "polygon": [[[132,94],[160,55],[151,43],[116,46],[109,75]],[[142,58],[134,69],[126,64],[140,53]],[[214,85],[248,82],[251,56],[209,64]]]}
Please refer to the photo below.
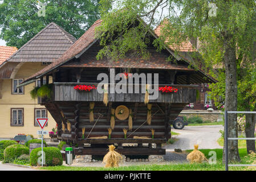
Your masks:
{"label": "thick birch trunk on the right, nearest the granary", "polygon": [[[237,110],[237,64],[235,57],[235,43],[233,36],[229,32],[224,35],[224,63],[226,73],[226,90],[225,90],[225,109],[227,111]],[[228,136],[229,138],[237,138],[237,114],[228,114]],[[229,162],[237,162],[240,160],[238,153],[238,141],[228,141]],[[225,144],[223,149],[223,159],[225,162]]]}

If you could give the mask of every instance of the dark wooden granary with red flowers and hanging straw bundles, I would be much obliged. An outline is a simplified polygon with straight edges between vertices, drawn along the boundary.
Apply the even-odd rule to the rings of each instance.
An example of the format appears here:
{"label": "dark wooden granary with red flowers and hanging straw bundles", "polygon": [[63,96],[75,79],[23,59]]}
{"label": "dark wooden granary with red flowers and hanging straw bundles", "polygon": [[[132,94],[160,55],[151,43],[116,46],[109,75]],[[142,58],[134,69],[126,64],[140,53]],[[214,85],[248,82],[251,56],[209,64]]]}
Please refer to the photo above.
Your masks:
{"label": "dark wooden granary with red flowers and hanging straw bundles", "polygon": [[[52,90],[51,96],[39,98],[38,102],[47,108],[58,123],[58,138],[74,144],[76,155],[105,155],[108,144],[115,144],[117,151],[123,155],[163,155],[165,149],[161,148],[161,144],[170,138],[170,123],[185,105],[196,101],[194,84],[214,80],[204,72],[189,67],[188,61],[176,56],[169,48],[159,53],[149,46],[149,60],[97,60],[96,55],[102,47],[94,34],[95,27],[100,23],[101,20],[97,20],[58,60],[23,84],[39,78],[46,79],[46,84]],[[149,34],[152,40],[157,38],[154,32]],[[169,56],[176,63],[166,61]],[[102,93],[94,89],[101,82],[97,80],[100,73],[109,76],[109,80],[100,86]],[[146,94],[151,95],[146,88],[151,85],[141,81],[137,83],[139,93],[109,92],[111,74],[118,73],[123,74],[124,78],[131,73],[158,73],[159,96],[145,101],[148,97]],[[112,84],[116,86],[117,82]],[[154,82],[156,80],[151,84]],[[135,86],[136,83],[132,88]],[[164,88],[171,91],[162,92]],[[91,145],[84,145],[86,143]],[[124,143],[137,145],[124,146]],[[147,147],[143,143],[147,143]],[[156,147],[152,147],[152,143]]]}

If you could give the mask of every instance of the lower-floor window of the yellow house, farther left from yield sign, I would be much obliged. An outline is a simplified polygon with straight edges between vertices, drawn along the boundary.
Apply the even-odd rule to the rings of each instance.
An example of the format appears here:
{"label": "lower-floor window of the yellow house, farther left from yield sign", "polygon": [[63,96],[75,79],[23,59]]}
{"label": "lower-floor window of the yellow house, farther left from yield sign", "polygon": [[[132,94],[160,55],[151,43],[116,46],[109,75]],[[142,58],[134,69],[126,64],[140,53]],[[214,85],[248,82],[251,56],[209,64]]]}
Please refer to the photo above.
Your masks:
{"label": "lower-floor window of the yellow house, farther left from yield sign", "polygon": [[11,126],[24,126],[23,108],[11,108]]}

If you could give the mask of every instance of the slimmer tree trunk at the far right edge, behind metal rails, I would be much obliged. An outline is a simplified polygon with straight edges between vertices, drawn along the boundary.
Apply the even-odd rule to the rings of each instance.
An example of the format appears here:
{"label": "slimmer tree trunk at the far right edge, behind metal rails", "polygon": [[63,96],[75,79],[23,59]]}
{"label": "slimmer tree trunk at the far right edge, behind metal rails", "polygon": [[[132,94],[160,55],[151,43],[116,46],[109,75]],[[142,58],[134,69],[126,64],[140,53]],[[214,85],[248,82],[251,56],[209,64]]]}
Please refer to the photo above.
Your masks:
{"label": "slimmer tree trunk at the far right edge, behind metal rails", "polygon": [[[246,138],[254,138],[255,131],[255,114],[245,114],[245,136]],[[255,140],[246,140],[247,154],[250,151],[255,152]]]}

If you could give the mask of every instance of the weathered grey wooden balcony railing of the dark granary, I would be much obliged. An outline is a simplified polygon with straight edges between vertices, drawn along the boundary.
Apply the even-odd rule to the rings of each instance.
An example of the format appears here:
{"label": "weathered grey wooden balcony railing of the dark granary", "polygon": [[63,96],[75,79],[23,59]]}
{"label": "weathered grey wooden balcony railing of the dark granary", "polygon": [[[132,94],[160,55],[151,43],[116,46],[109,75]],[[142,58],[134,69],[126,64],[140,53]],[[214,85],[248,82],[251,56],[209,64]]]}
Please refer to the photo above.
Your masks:
{"label": "weathered grey wooden balcony railing of the dark granary", "polygon": [[[95,85],[97,83],[77,83],[77,82],[55,82],[53,86],[52,98],[39,98],[39,104],[48,101],[103,101],[104,93],[97,90],[85,91],[75,90],[76,85]],[[135,84],[133,84],[135,86]],[[137,85],[136,85],[137,86]],[[165,86],[165,85],[159,85]],[[159,92],[156,100],[149,102],[168,102],[168,103],[190,103],[196,102],[197,85],[167,85],[177,88],[176,93]],[[127,86],[128,87],[128,86]],[[141,85],[139,85],[141,90]],[[143,88],[142,88],[143,89]],[[108,89],[109,90],[109,89]],[[144,102],[145,93],[108,93],[109,102]]]}

